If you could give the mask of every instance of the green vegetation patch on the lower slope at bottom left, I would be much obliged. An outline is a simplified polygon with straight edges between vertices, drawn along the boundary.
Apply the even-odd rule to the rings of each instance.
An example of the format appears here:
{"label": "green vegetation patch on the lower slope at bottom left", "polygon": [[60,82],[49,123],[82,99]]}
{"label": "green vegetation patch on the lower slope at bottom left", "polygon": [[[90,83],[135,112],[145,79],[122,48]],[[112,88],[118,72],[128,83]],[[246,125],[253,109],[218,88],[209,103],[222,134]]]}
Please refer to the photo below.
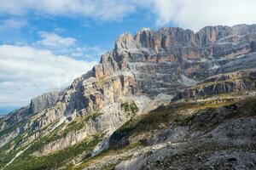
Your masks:
{"label": "green vegetation patch on the lower slope at bottom left", "polygon": [[27,149],[21,156],[10,164],[6,169],[55,169],[56,167],[69,166],[68,164],[73,157],[78,156],[92,150],[96,144],[102,140],[102,137],[97,135],[92,139],[84,140],[79,144],[67,147],[64,150],[56,151],[47,156],[32,156],[31,154],[38,150],[47,139],[40,139],[35,144]]}

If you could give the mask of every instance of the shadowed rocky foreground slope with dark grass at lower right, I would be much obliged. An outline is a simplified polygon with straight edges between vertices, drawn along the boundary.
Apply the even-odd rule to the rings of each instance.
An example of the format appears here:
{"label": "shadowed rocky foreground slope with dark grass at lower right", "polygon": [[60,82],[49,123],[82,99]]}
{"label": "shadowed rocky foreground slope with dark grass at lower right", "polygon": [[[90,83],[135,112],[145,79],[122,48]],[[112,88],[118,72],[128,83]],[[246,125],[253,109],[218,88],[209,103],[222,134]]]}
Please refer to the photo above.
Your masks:
{"label": "shadowed rocky foreground slope with dark grass at lower right", "polygon": [[[255,96],[160,106],[117,130],[84,169],[254,169]],[[115,152],[115,150],[118,150]]]}

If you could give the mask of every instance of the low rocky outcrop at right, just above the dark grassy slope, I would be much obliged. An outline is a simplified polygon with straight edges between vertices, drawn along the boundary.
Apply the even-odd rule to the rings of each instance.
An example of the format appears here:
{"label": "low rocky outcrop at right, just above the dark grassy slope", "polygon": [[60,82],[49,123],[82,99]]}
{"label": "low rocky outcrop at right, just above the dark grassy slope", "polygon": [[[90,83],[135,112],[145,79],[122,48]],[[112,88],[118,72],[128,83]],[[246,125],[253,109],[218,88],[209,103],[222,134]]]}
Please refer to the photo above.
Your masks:
{"label": "low rocky outcrop at right, just above the dark grassy slope", "polygon": [[172,99],[201,99],[216,94],[247,93],[256,90],[256,71],[239,71],[209,77]]}

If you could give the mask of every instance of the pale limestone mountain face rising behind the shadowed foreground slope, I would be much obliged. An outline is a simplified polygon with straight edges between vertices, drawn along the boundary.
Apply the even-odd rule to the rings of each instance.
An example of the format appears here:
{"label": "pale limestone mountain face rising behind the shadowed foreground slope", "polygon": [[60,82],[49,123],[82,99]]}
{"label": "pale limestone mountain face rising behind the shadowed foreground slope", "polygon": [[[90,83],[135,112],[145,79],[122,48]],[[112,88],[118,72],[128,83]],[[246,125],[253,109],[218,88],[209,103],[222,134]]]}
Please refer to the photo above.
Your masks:
{"label": "pale limestone mountain face rising behind the shadowed foreground slope", "polygon": [[[200,98],[255,90],[255,71],[241,72],[255,68],[255,42],[255,25],[207,26],[196,33],[172,27],[124,33],[98,65],[69,87],[32,99],[1,118],[0,141],[8,144],[21,136],[16,148],[21,150],[38,147],[34,144],[46,138],[37,152],[29,153],[38,155],[97,135],[103,141],[96,148],[102,150],[131,117],[169,103],[174,95]],[[233,71],[238,72],[223,74]]]}

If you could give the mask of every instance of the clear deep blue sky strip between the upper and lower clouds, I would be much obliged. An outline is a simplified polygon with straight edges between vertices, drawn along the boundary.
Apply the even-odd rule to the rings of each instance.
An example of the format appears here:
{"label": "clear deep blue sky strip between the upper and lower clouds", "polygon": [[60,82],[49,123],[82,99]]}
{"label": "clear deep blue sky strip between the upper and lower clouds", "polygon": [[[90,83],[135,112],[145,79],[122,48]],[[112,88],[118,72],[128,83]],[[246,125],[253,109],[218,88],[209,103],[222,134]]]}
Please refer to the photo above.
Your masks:
{"label": "clear deep blue sky strip between the upper and lower clouds", "polygon": [[[155,16],[146,9],[140,9],[133,14],[125,16],[122,20],[100,20],[80,16],[49,16],[27,14],[26,16],[2,15],[3,22],[12,20],[13,27],[6,26],[0,31],[0,43],[31,45],[42,39],[40,31],[55,33],[60,37],[72,37],[76,39],[78,47],[98,48],[99,52],[112,49],[114,41],[125,31],[135,33],[142,27],[155,26]],[[168,24],[168,26],[173,26]],[[99,59],[99,54],[93,49],[89,52],[92,57],[87,60]],[[88,54],[88,55],[89,55]],[[78,56],[77,59],[84,59]]]}

